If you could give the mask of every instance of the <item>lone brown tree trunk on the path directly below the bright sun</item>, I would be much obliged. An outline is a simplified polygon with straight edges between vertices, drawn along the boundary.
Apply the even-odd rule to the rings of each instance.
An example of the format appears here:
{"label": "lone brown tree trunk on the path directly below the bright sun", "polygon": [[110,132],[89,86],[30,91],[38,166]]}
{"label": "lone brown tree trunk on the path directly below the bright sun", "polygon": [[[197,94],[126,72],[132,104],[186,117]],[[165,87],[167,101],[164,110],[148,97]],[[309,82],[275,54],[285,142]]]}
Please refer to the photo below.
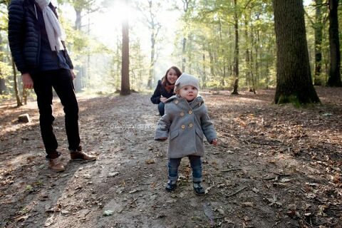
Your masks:
{"label": "lone brown tree trunk on the path directly below the bright sun", "polygon": [[123,60],[120,95],[130,94],[130,46],[128,19],[123,19]]}

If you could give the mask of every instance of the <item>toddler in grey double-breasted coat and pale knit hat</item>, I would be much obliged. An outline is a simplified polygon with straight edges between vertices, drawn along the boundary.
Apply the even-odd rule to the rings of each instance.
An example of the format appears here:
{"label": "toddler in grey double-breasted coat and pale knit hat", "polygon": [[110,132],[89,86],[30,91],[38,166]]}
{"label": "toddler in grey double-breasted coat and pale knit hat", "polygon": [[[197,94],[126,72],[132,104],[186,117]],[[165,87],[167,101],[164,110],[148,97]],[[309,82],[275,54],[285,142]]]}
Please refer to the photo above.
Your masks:
{"label": "toddler in grey double-breasted coat and pale knit hat", "polygon": [[199,81],[194,76],[182,73],[175,83],[175,94],[165,101],[165,115],[160,118],[155,131],[155,140],[167,140],[169,192],[177,187],[178,167],[182,157],[189,157],[192,168],[193,187],[203,195],[202,160],[203,136],[217,145],[217,134],[209,120],[207,107],[201,96],[197,96]]}

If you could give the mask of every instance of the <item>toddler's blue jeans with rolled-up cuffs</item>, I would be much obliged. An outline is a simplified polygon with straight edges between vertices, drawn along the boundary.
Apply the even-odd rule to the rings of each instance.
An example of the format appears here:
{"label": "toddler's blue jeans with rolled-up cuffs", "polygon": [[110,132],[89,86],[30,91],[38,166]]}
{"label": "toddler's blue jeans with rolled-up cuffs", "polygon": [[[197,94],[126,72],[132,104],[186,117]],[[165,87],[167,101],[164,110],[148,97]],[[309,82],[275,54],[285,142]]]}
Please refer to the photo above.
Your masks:
{"label": "toddler's blue jeans with rolled-up cuffs", "polygon": [[[189,155],[190,165],[192,168],[192,181],[202,182],[202,160],[201,157],[195,155]],[[178,167],[180,166],[180,158],[169,158],[167,166],[169,167],[169,180],[178,179]]]}

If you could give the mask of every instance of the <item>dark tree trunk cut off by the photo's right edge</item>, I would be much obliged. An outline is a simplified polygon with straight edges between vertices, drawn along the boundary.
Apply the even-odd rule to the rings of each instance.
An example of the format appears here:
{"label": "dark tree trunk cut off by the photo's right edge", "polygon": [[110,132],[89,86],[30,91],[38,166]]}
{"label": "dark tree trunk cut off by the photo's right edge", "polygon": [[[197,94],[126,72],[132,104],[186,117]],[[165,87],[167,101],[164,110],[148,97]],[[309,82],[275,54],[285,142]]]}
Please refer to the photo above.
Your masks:
{"label": "dark tree trunk cut off by the photo's right edge", "polygon": [[330,71],[327,86],[341,87],[341,53],[338,39],[338,0],[329,0]]}

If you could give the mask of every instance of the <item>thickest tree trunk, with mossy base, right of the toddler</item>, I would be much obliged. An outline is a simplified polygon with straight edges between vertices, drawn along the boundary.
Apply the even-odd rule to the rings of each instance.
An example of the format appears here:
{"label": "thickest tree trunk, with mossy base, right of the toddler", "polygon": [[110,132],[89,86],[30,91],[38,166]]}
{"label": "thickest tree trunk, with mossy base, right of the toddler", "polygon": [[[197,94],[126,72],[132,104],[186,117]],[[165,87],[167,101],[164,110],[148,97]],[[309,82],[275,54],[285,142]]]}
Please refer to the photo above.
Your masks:
{"label": "thickest tree trunk, with mossy base, right of the toddler", "polygon": [[274,103],[318,103],[312,85],[302,0],[273,0],[276,32]]}

